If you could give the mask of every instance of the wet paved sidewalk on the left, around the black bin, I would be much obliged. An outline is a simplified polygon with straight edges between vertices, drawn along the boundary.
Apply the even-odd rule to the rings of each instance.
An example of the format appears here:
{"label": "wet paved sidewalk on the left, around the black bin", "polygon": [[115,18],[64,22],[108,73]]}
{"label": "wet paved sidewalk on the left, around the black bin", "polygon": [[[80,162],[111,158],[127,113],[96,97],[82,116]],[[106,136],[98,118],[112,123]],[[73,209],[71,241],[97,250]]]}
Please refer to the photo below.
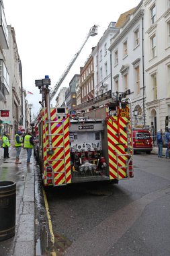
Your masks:
{"label": "wet paved sidewalk on the left, around the black bin", "polygon": [[20,154],[22,164],[15,164],[15,148],[9,148],[10,159],[5,161],[3,149],[0,151],[0,181],[16,183],[15,236],[0,241],[0,256],[35,256],[34,156],[27,166],[26,150],[22,149]]}

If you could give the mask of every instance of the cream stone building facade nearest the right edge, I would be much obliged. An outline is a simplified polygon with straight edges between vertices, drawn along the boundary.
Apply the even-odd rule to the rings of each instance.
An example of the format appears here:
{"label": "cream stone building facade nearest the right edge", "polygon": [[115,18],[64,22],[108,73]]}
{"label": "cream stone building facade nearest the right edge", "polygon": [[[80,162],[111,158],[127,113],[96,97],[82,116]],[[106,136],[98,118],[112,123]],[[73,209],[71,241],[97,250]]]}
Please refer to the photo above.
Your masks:
{"label": "cream stone building facade nearest the right edge", "polygon": [[170,116],[170,1],[145,0],[144,15],[146,118],[156,132]]}

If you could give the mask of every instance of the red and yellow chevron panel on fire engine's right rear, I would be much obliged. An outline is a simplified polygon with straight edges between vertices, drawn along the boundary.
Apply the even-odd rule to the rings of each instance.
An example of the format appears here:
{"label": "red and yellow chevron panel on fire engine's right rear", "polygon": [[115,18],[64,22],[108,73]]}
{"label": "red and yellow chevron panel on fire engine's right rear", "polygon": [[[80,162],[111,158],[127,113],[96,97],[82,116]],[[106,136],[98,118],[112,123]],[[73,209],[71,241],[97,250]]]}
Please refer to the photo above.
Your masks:
{"label": "red and yellow chevron panel on fire engine's right rear", "polygon": [[[126,117],[112,117],[108,119],[108,154],[110,179],[124,179],[127,176],[126,148],[128,147],[126,127],[128,119]],[[118,155],[118,160],[116,158]]]}

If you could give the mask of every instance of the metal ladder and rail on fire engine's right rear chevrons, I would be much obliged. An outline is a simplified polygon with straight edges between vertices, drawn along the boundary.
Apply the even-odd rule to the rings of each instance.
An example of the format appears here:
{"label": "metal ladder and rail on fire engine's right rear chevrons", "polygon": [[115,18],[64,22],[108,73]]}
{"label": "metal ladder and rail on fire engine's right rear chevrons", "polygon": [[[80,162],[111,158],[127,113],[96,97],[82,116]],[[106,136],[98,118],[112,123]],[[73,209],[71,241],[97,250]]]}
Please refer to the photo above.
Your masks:
{"label": "metal ladder and rail on fire engine's right rear chevrons", "polygon": [[[126,170],[126,178],[130,178],[130,174],[129,174],[129,170],[130,168],[132,168],[132,154],[130,152],[132,152],[132,141],[130,142],[130,123],[126,124],[126,131],[127,131],[127,153],[128,154],[118,154],[118,152],[116,152],[116,162],[117,162],[117,174],[118,174],[118,179],[119,179],[119,169],[125,169]],[[126,160],[126,165],[125,166],[120,166],[119,165],[119,157],[121,156],[125,156],[127,158]]]}

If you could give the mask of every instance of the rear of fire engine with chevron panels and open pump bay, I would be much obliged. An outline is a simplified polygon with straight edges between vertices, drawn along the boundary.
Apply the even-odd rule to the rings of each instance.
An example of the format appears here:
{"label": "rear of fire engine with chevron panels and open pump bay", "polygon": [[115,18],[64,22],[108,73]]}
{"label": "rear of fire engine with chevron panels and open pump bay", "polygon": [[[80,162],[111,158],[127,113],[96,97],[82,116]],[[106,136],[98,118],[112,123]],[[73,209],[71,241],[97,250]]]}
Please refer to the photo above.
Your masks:
{"label": "rear of fire engine with chevron panels and open pump bay", "polygon": [[133,177],[130,100],[118,97],[85,115],[71,117],[67,107],[50,108],[49,90],[38,116],[44,186]]}

